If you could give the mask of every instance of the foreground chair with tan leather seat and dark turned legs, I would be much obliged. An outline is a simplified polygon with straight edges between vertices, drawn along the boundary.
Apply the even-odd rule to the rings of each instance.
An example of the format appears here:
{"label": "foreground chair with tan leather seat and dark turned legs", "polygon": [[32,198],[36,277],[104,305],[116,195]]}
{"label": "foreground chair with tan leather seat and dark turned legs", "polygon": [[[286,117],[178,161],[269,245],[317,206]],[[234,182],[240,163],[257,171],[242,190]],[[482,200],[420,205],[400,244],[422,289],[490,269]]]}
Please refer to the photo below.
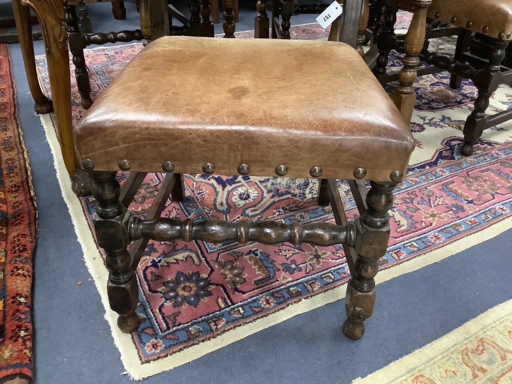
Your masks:
{"label": "foreground chair with tan leather seat and dark turned legs", "polygon": [[[74,135],[80,164],[94,180],[96,237],[106,252],[109,300],[122,331],[139,325],[134,270],[140,256],[134,244],[130,252],[126,246],[183,239],[343,244],[352,274],[343,329],[352,339],[362,336],[375,300],[377,260],[388,246],[393,189],[406,173],[414,140],[352,47],[162,37],[121,71]],[[319,203],[331,203],[336,224],[141,220],[125,207],[134,193],[120,191],[120,169],[166,173],[162,188],[177,200],[184,173],[321,179]],[[350,180],[360,211],[355,222],[347,222],[336,179]],[[367,194],[362,179],[370,180]]]}

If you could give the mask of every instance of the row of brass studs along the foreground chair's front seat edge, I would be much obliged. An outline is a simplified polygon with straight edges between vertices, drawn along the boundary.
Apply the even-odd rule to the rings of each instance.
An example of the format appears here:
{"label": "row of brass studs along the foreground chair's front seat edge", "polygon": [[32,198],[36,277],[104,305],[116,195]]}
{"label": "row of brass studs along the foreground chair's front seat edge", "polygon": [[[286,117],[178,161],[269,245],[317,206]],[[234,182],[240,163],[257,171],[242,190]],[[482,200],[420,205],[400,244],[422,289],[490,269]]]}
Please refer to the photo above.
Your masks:
{"label": "row of brass studs along the foreground chair's front seat edge", "polygon": [[[132,163],[130,163],[130,161],[128,161],[126,159],[119,160],[117,162],[117,165],[119,166],[119,169],[121,169],[121,170],[130,170],[132,168]],[[82,160],[82,167],[84,169],[93,170],[95,166],[96,166],[96,164],[94,164],[94,161],[92,161],[91,159]],[[215,172],[215,166],[212,163],[204,163],[202,168],[203,168],[203,172],[208,175],[211,175],[212,173]],[[162,163],[162,169],[165,172],[173,172],[174,163],[172,161],[164,161]],[[251,172],[251,168],[249,167],[248,164],[245,164],[245,163],[240,164],[237,167],[237,170],[240,175],[248,175]],[[276,175],[285,176],[287,173],[288,173],[288,167],[286,165],[281,164],[281,165],[278,165],[275,167]],[[322,176],[322,173],[323,173],[322,168],[318,167],[318,166],[311,167],[311,169],[309,170],[309,174],[311,175],[311,177],[320,177],[320,176]],[[367,174],[367,172],[366,172],[365,168],[357,168],[354,170],[354,177],[356,179],[364,179],[366,177],[366,174]],[[391,175],[389,175],[389,178],[391,179],[391,181],[398,183],[398,182],[402,181],[403,173],[401,172],[401,170],[395,170],[391,173]]]}

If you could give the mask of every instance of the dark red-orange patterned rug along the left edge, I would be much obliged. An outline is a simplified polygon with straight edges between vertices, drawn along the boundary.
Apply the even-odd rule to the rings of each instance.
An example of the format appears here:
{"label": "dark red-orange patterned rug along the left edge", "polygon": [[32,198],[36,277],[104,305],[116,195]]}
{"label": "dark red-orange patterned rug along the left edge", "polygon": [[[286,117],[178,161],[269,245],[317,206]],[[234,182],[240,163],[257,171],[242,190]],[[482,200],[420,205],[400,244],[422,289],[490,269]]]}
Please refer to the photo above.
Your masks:
{"label": "dark red-orange patterned rug along the left edge", "polygon": [[[37,209],[9,49],[0,44],[0,381],[29,382]],[[7,381],[4,381],[7,380]]]}

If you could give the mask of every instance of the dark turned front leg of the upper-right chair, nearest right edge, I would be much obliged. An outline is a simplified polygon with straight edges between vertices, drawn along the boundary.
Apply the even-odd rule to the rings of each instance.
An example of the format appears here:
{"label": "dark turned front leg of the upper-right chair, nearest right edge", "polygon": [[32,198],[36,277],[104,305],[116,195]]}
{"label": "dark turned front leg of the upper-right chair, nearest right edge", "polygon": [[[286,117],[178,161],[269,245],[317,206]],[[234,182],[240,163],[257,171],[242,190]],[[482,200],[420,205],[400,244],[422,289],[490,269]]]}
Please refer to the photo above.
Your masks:
{"label": "dark turned front leg of the upper-right chair, nearest right edge", "polygon": [[485,129],[485,110],[489,106],[489,98],[498,88],[498,81],[493,81],[494,76],[500,73],[500,63],[505,57],[505,48],[508,40],[494,40],[494,47],[489,54],[489,62],[484,69],[478,71],[473,79],[478,89],[478,97],[475,100],[475,107],[470,116],[467,117],[462,133],[464,144],[460,148],[463,156],[470,156],[473,153],[473,145],[478,141]]}

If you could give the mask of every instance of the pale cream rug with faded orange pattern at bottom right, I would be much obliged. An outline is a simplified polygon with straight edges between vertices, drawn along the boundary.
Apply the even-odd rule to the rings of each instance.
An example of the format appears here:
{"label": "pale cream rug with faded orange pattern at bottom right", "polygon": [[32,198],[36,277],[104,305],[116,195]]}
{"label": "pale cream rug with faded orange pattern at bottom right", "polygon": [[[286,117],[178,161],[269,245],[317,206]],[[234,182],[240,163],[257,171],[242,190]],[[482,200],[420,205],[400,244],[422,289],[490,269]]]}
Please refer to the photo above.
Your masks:
{"label": "pale cream rug with faded orange pattern at bottom right", "polygon": [[512,300],[353,384],[512,382]]}

